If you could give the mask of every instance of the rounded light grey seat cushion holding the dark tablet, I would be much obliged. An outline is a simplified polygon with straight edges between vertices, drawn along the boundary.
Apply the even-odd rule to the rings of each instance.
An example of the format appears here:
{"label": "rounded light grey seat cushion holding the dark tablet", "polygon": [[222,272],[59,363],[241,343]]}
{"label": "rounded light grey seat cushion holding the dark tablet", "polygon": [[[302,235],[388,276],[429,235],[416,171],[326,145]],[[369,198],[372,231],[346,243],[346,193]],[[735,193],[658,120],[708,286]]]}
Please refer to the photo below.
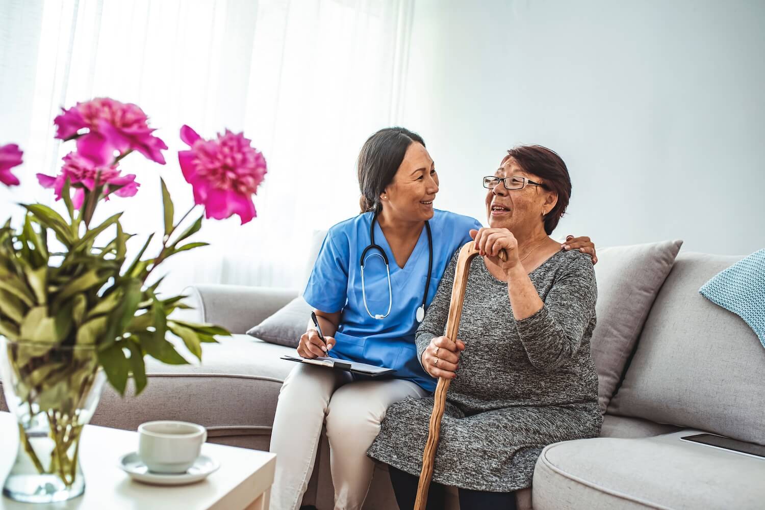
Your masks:
{"label": "rounded light grey seat cushion holding the dark tablet", "polygon": [[551,444],[534,469],[534,510],[754,510],[765,462],[679,437],[598,437]]}

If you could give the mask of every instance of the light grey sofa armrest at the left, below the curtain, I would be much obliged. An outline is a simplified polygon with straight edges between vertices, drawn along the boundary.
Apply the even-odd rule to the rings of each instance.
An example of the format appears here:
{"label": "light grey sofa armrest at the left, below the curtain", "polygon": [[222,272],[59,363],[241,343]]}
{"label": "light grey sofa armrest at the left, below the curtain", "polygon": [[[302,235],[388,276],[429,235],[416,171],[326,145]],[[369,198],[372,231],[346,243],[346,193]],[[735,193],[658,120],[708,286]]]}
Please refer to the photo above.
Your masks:
{"label": "light grey sofa armrest at the left, below the curtain", "polygon": [[174,317],[223,326],[246,333],[298,297],[295,289],[243,285],[191,285],[184,289],[194,310],[177,310]]}

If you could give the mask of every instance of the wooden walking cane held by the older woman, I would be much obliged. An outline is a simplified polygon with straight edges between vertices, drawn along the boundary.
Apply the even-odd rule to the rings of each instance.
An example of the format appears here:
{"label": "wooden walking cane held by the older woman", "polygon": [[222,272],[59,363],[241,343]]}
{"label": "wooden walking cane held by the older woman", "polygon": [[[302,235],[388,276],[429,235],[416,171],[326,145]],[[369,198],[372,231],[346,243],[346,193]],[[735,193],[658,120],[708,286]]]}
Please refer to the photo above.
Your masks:
{"label": "wooden walking cane held by the older woman", "polygon": [[[449,316],[446,320],[446,337],[454,342],[457,339],[457,331],[460,329],[460,317],[462,315],[462,302],[467,287],[467,274],[470,272],[470,261],[478,255],[475,242],[467,242],[460,250],[457,257],[457,268],[454,271],[454,284],[451,286],[451,301],[449,302]],[[500,250],[500,259],[507,260],[505,250]],[[428,430],[428,442],[425,443],[425,451],[422,453],[422,470],[420,482],[417,486],[417,499],[415,510],[425,510],[428,502],[428,489],[433,476],[433,463],[435,452],[438,447],[438,435],[441,433],[441,417],[444,416],[446,405],[446,391],[449,389],[451,379],[438,378],[433,399],[433,412]]]}

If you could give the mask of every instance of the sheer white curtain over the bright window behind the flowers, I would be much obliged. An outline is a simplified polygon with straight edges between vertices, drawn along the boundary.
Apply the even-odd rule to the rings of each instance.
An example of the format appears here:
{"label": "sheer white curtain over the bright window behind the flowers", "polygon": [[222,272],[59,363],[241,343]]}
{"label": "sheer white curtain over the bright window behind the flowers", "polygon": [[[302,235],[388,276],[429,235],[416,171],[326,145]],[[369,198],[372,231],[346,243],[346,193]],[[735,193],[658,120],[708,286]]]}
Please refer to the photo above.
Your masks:
{"label": "sheer white curtain over the bright window behind the flowers", "polygon": [[243,131],[269,164],[258,217],[207,221],[197,237],[212,246],[177,255],[164,291],[298,287],[311,232],[358,212],[360,146],[399,118],[412,2],[0,0],[0,145],[24,150],[21,187],[0,190],[2,216],[18,201],[52,202],[34,173],[53,174],[71,150],[53,139],[61,106],[135,102],[170,147],[168,164],[126,158],[142,186],[101,213],[125,210],[137,237],[161,229],[160,175],[177,212],[192,203],[177,164],[181,125],[206,138]]}

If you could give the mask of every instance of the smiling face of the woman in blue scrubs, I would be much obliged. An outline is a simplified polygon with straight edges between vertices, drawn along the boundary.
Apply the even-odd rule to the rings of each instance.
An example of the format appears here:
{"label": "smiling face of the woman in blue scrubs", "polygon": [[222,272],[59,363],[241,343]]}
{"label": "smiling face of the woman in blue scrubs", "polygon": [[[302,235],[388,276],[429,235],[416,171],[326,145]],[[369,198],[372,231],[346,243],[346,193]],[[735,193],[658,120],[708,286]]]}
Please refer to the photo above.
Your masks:
{"label": "smiling face of the woman in blue scrubs", "polygon": [[391,184],[381,193],[383,210],[399,219],[425,221],[433,217],[438,174],[428,151],[413,142]]}

